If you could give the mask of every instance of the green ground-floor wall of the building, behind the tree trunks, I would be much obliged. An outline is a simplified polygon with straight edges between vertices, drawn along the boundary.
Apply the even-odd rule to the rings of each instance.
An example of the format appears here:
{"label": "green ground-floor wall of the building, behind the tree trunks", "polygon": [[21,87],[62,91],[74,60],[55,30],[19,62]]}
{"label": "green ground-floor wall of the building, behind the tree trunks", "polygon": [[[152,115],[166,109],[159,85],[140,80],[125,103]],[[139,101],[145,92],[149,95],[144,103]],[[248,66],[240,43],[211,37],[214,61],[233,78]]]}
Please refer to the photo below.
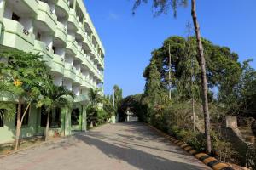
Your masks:
{"label": "green ground-floor wall of the building, behind the tree trunks", "polygon": [[[77,105],[75,106],[77,108]],[[49,136],[54,136],[58,132],[61,136],[68,136],[72,134],[73,130],[84,131],[86,130],[86,107],[79,105],[79,125],[71,126],[71,109],[61,109],[61,127],[49,128]],[[29,111],[28,125],[22,126],[21,138],[28,138],[35,135],[44,135],[45,128],[40,127],[41,122],[41,109],[37,109],[32,105]],[[15,116],[10,120],[4,120],[3,127],[0,127],[0,144],[11,143],[15,141],[16,127]]]}

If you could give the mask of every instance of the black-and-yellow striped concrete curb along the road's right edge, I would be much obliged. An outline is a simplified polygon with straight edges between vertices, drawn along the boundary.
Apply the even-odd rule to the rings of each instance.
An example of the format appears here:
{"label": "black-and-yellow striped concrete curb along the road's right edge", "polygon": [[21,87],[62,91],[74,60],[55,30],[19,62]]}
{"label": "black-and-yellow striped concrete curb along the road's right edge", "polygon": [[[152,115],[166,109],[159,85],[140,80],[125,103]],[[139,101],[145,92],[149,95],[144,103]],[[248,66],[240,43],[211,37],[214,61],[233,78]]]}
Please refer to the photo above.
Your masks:
{"label": "black-and-yellow striped concrete curb along the road's right edge", "polygon": [[180,148],[183,150],[189,152],[189,154],[195,156],[198,160],[202,161],[204,164],[206,164],[208,167],[211,167],[214,170],[234,170],[232,167],[230,167],[228,164],[223,163],[221,161],[218,161],[216,158],[207,155],[206,153],[198,152],[197,150],[193,149],[189,144],[185,144],[183,141],[173,138],[172,136],[161,132],[159,129],[148,125],[148,127],[154,129],[157,133],[160,133],[162,136],[164,136],[166,139],[172,142],[172,144],[177,144]]}

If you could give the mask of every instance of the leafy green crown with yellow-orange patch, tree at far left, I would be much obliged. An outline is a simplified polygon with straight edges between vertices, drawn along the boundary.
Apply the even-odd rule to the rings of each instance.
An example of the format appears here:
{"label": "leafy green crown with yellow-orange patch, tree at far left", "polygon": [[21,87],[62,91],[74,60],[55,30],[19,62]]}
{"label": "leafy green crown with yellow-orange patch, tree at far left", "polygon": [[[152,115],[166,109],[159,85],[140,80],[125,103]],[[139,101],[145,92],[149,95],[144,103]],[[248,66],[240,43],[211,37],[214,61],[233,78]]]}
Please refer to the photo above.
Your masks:
{"label": "leafy green crown with yellow-orange patch, tree at far left", "polygon": [[[26,53],[19,50],[0,52],[0,94],[9,101],[37,102],[40,89],[44,82],[50,80],[49,69],[38,54]],[[15,115],[15,108],[9,103],[1,102],[5,116]],[[3,115],[3,114],[2,114]]]}

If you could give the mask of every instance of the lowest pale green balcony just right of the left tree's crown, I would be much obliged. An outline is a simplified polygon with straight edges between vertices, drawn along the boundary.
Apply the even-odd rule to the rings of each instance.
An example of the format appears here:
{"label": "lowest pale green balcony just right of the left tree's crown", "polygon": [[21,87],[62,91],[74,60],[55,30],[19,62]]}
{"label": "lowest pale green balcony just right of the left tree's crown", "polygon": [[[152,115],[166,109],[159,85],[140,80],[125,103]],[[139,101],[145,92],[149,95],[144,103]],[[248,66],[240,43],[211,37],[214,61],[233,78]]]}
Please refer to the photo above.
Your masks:
{"label": "lowest pale green balcony just right of the left tree's crown", "polygon": [[54,58],[51,63],[51,71],[55,72],[57,75],[64,75],[64,59],[61,59],[61,56],[54,54]]}

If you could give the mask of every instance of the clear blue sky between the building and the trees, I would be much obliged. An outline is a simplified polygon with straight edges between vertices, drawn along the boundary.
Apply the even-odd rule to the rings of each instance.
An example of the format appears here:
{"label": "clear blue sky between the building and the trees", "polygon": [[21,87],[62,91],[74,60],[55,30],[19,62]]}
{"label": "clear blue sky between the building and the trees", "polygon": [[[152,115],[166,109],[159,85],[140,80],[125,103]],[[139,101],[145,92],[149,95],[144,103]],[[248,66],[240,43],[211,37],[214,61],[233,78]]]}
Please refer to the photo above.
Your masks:
{"label": "clear blue sky between the building and the trees", "polygon": [[[180,8],[177,19],[172,14],[154,18],[151,4],[143,5],[132,16],[134,0],[85,0],[94,25],[106,50],[105,94],[113,85],[123,88],[124,96],[142,93],[143,70],[150,53],[170,36],[186,36],[191,22],[190,8]],[[256,68],[256,1],[198,0],[197,13],[201,35],[214,44],[227,46],[240,61],[253,58]],[[191,22],[192,23],[192,22]]]}

